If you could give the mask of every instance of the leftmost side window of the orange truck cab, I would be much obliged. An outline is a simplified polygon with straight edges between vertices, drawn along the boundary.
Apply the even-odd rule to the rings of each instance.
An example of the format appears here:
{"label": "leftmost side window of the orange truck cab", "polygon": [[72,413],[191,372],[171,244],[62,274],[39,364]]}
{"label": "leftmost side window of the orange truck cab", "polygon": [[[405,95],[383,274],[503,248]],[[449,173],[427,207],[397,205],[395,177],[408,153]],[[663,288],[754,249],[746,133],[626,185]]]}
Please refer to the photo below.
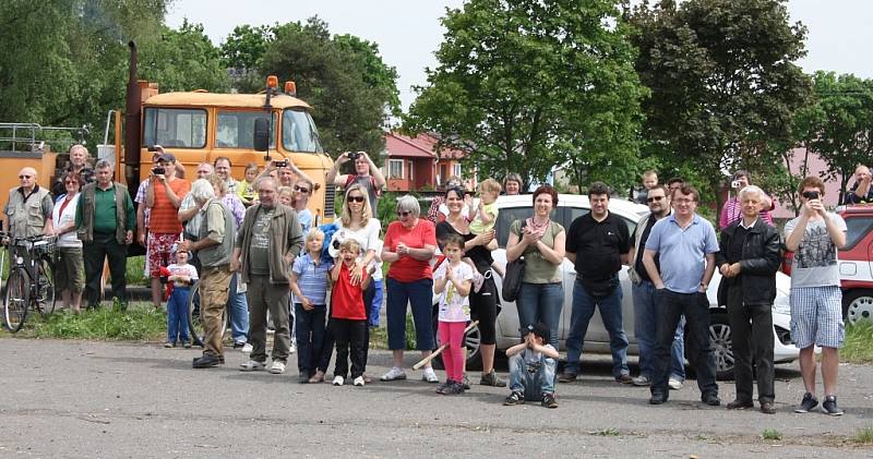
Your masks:
{"label": "leftmost side window of the orange truck cab", "polygon": [[174,148],[206,146],[206,110],[147,107],[144,114],[143,144]]}

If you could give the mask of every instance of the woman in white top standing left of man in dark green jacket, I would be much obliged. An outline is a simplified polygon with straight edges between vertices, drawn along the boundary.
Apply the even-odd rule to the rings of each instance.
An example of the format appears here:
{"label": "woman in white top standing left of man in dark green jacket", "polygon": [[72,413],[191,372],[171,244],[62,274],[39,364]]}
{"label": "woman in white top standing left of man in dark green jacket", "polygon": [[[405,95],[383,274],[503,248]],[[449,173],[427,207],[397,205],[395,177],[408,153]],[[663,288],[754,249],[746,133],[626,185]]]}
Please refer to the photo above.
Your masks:
{"label": "woman in white top standing left of man in dark green jacket", "polygon": [[63,177],[67,194],[58,197],[51,213],[55,221],[55,235],[58,237],[56,250],[59,252],[55,265],[55,285],[61,292],[63,307],[79,313],[82,305],[82,291],[85,289],[85,264],[82,258],[82,241],[75,233],[75,208],[82,178],[75,172]]}

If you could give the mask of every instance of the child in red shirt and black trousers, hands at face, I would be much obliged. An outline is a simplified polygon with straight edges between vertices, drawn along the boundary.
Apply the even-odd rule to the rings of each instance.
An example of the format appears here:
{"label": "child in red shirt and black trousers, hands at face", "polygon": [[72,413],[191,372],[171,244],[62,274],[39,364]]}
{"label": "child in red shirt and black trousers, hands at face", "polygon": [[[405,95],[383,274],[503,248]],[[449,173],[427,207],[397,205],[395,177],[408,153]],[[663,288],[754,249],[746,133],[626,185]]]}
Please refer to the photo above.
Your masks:
{"label": "child in red shirt and black trousers, hands at face", "polygon": [[348,374],[349,346],[351,346],[351,379],[356,386],[363,386],[364,349],[367,339],[367,310],[363,305],[363,291],[370,283],[370,273],[363,273],[359,283],[351,281],[351,268],[361,253],[361,245],[347,239],[339,245],[340,263],[331,270],[334,282],[331,298],[331,324],[336,339],[336,366],[334,386],[342,386]]}

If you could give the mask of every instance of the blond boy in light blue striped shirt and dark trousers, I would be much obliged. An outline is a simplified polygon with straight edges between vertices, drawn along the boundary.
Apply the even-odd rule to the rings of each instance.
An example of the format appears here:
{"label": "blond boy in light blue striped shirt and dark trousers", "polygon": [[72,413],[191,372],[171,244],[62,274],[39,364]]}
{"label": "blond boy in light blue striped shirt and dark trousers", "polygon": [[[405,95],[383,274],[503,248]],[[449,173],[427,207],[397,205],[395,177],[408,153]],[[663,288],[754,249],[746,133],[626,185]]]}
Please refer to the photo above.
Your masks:
{"label": "blond boy in light blue striped shirt and dark trousers", "polygon": [[290,288],[294,302],[295,328],[297,329],[297,369],[300,383],[309,383],[324,343],[324,318],[327,312],[327,285],[331,257],[322,257],[324,232],[318,228],[309,230],[306,253],[294,261]]}

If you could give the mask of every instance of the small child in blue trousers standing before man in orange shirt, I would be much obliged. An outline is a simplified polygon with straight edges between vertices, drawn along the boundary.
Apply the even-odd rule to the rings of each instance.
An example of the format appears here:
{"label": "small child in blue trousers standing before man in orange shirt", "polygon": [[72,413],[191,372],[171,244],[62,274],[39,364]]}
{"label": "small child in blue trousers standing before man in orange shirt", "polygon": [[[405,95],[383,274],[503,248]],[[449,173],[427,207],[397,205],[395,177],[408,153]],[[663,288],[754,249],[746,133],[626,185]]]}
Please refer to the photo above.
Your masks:
{"label": "small child in blue trousers standing before man in orange shirt", "polygon": [[174,244],[170,256],[176,256],[176,263],[167,266],[167,282],[172,282],[172,292],[167,300],[167,342],[165,348],[175,348],[176,342],[181,342],[186,348],[191,347],[188,336],[188,295],[191,286],[198,280],[198,269],[188,264],[188,251],[178,250]]}

